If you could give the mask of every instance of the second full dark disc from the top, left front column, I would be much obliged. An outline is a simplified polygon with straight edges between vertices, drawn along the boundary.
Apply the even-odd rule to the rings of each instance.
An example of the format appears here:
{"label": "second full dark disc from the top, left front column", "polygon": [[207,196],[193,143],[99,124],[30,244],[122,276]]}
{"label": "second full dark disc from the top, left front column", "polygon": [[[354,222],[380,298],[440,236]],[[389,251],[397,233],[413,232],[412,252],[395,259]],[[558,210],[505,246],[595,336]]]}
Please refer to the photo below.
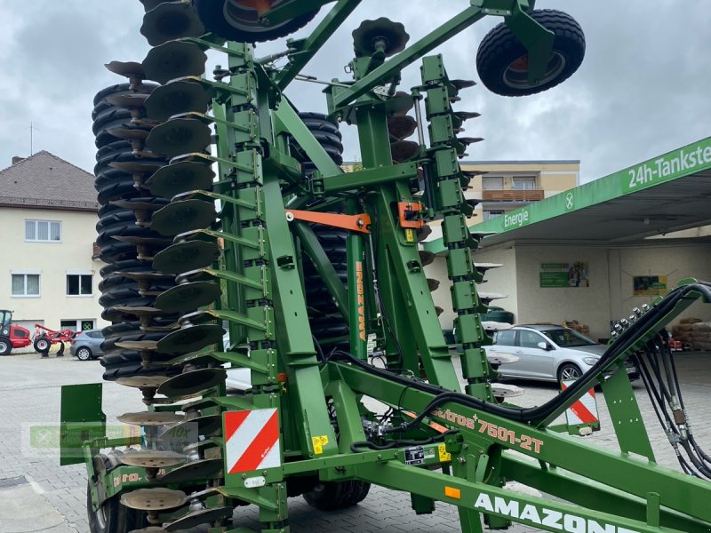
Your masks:
{"label": "second full dark disc from the top, left front column", "polygon": [[[197,44],[172,41],[151,48],[146,59],[143,60],[143,68],[148,79],[159,84],[167,84],[176,78],[202,75],[206,61],[207,55]],[[148,100],[146,106],[148,107]],[[202,109],[183,110],[186,111],[202,111]],[[157,118],[150,113],[148,116]]]}

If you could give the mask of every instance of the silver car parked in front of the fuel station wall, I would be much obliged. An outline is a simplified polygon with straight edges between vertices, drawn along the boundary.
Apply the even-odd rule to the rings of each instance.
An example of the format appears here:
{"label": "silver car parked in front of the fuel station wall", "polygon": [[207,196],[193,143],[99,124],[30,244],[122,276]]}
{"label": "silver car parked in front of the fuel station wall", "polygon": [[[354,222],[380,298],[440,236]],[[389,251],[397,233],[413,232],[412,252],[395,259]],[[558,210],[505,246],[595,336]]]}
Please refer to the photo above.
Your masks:
{"label": "silver car parked in front of the fuel station wall", "polygon": [[[575,380],[589,370],[607,346],[595,342],[579,331],[554,324],[518,324],[494,334],[494,344],[486,346],[487,354],[511,354],[518,361],[502,364],[502,377]],[[625,362],[627,374],[639,378],[632,362]]]}

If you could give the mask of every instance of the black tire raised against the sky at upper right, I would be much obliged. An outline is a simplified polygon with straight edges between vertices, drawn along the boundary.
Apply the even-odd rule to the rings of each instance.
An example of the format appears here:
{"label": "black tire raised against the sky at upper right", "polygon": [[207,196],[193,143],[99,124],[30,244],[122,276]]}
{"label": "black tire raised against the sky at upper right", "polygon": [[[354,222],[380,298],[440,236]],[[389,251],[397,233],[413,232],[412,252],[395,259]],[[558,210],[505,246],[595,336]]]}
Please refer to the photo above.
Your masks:
{"label": "black tire raised against the sky at upper right", "polygon": [[501,96],[527,96],[547,91],[572,76],[585,57],[585,34],[568,13],[552,9],[529,12],[555,34],[553,55],[539,84],[528,84],[528,52],[506,23],[493,28],[476,52],[476,70],[489,91]]}

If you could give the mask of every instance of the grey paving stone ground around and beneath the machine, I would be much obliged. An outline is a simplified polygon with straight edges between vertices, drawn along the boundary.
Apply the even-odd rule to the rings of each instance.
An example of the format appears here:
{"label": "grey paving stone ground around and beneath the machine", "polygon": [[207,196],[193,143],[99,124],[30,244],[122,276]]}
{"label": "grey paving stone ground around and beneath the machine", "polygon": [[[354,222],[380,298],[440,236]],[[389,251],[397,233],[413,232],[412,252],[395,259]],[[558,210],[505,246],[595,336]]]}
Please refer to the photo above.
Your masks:
{"label": "grey paving stone ground around and beneath the machine", "polygon": [[[711,354],[683,353],[678,354],[676,360],[686,408],[697,421],[694,426],[697,440],[706,449],[711,449],[711,425],[705,418],[711,397]],[[84,465],[60,467],[58,457],[38,456],[36,449],[30,446],[30,428],[56,426],[60,419],[60,386],[98,382],[101,370],[98,361],[79,362],[69,356],[45,360],[40,360],[36,354],[0,357],[0,533],[89,531]],[[518,381],[515,385],[526,391],[515,402],[526,407],[540,405],[557,394],[552,384]],[[654,418],[641,383],[635,384],[635,395],[659,464],[678,470],[667,437]],[[619,448],[601,394],[598,394],[598,406],[603,431],[587,437],[585,442],[617,451]],[[109,424],[116,423],[116,416],[135,410],[145,410],[138,391],[112,383],[105,385],[104,411]],[[24,478],[27,483],[1,488],[4,480],[12,483],[13,478]],[[22,496],[20,504],[17,503],[18,495]],[[338,513],[317,511],[301,497],[292,498],[289,505],[290,524],[295,533],[459,531],[455,507],[437,504],[435,513],[416,515],[411,511],[408,494],[377,487],[371,489],[361,505]],[[38,518],[38,511],[42,518]],[[234,522],[236,526],[256,528],[256,509],[238,508]],[[508,530],[513,533],[537,531],[520,525]]]}

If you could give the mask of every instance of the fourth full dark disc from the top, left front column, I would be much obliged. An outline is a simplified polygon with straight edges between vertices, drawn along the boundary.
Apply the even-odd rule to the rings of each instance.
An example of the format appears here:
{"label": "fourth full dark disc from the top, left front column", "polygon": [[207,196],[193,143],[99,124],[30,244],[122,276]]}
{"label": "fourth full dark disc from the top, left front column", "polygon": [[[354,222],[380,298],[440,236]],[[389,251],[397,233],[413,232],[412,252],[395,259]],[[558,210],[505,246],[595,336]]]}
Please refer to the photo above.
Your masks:
{"label": "fourth full dark disc from the top, left front column", "polygon": [[172,118],[159,124],[151,130],[146,139],[146,146],[154,154],[168,158],[202,152],[211,143],[210,126],[190,118]]}

